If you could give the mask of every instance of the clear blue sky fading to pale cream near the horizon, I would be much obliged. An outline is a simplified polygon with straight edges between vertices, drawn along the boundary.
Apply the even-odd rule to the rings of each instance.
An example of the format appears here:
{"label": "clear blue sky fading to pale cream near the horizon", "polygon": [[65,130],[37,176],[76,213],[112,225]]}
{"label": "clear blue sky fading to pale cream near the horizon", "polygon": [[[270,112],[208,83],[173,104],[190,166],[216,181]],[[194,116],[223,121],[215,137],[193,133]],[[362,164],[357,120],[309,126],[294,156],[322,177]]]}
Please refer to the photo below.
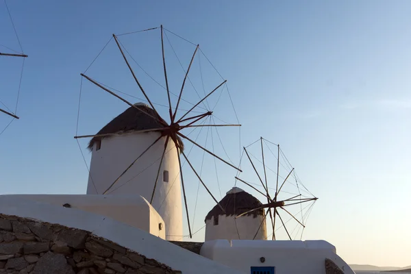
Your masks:
{"label": "clear blue sky fading to pale cream near the horizon", "polygon": [[[29,58],[18,105],[21,119],[0,136],[2,194],[85,192],[87,170],[73,139],[79,73],[112,33],[163,24],[199,43],[228,80],[242,123],[242,145],[260,136],[278,142],[302,182],[320,197],[304,238],[332,242],[349,263],[411,264],[410,2],[8,1],[8,5]],[[0,30],[5,34],[0,44],[18,49],[3,2],[0,12]],[[139,44],[129,40],[128,45]],[[92,75],[100,80],[108,77],[114,84],[130,81],[114,49],[114,55],[105,57],[105,66],[118,66],[117,74],[112,79],[105,74],[102,61]],[[185,53],[184,64],[192,50]],[[134,53],[141,52],[134,47]],[[159,54],[158,48],[144,53],[147,58]],[[154,67],[148,59],[142,62]],[[14,105],[16,97],[16,79],[8,75],[18,76],[18,66],[12,68],[0,63],[0,99],[8,105]],[[153,77],[164,83],[161,69]],[[120,72],[124,79],[118,78]],[[178,77],[181,82],[182,75]],[[14,86],[5,81],[9,79]],[[135,83],[129,83],[123,85],[140,96]],[[96,132],[125,108],[103,92],[85,100],[81,134]],[[105,108],[108,100],[112,108]],[[155,95],[153,100],[164,102],[164,96]],[[228,110],[222,110],[220,117],[226,114]],[[1,128],[8,121],[2,116]],[[221,134],[230,138],[238,131]],[[238,137],[234,139],[238,147]],[[86,140],[81,144],[84,148]],[[85,149],[84,153],[89,160],[90,154]],[[232,170],[223,173],[221,192],[232,187],[234,175]],[[195,197],[197,182],[189,191]],[[199,206],[197,228],[208,206]]]}

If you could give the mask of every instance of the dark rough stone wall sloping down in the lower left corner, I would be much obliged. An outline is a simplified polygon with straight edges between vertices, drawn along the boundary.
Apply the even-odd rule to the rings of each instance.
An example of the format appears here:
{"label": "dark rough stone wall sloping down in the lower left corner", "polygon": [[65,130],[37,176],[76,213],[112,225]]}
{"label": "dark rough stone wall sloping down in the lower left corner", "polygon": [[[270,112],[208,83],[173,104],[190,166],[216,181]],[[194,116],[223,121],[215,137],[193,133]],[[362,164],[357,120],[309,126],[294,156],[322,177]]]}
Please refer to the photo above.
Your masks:
{"label": "dark rough stone wall sloping down in the lower left corner", "polygon": [[168,274],[181,271],[93,236],[91,232],[0,214],[0,273]]}

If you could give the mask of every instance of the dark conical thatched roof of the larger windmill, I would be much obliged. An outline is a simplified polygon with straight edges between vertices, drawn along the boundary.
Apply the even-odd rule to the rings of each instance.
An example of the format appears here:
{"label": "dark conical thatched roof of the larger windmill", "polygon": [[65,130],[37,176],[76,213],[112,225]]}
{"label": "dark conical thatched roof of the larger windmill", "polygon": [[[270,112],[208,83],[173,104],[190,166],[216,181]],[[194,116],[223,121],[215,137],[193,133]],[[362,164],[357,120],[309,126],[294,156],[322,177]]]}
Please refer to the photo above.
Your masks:
{"label": "dark conical thatched roof of the larger windmill", "polygon": [[[157,112],[155,112],[155,110],[150,108],[145,103],[135,103],[134,105],[140,110],[147,112],[151,116],[157,117],[158,120],[164,121],[160,117],[160,115]],[[120,133],[126,133],[126,132],[129,133],[129,132],[134,132],[134,131],[142,130],[142,129],[155,129],[155,128],[164,127],[164,125],[162,125],[159,121],[156,121],[155,119],[153,119],[153,117],[148,116],[147,114],[145,114],[144,112],[141,112],[140,110],[137,110],[134,107],[127,108],[127,110],[119,114],[119,116],[116,116],[116,118],[112,119],[110,123],[108,123],[102,129],[100,129],[100,131],[97,132],[96,135],[114,134],[114,133],[120,134]],[[102,138],[110,138],[110,136],[92,138],[90,142],[88,142],[88,149],[92,150],[92,147],[95,144],[95,141],[101,140]],[[177,136],[177,141],[179,142],[180,148],[184,149],[184,144],[178,136]]]}

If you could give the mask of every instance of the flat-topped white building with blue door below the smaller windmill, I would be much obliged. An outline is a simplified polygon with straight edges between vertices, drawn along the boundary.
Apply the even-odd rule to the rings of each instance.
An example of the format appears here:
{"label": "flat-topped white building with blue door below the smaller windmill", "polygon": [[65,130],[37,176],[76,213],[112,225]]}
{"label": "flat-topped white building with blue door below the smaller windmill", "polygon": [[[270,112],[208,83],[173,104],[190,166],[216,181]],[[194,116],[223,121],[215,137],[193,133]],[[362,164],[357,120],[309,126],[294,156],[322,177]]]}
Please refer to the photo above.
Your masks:
{"label": "flat-topped white building with blue door below the smaller windmill", "polygon": [[329,259],[344,273],[354,274],[325,240],[210,240],[200,254],[242,273],[250,273],[251,266],[274,266],[275,274],[325,274],[325,259]]}

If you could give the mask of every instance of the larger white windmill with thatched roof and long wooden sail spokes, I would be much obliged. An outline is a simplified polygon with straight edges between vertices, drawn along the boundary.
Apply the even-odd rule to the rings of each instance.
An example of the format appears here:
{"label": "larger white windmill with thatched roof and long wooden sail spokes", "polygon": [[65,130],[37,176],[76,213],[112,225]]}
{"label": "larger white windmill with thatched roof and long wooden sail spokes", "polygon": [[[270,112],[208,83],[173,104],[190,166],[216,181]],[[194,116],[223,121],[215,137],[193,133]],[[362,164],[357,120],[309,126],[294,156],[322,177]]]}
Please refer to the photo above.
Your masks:
{"label": "larger white windmill with thatched roof and long wooden sail spokes", "polygon": [[[75,136],[75,138],[92,138],[88,144],[88,149],[92,151],[92,158],[90,162],[87,194],[141,195],[151,203],[153,208],[155,208],[160,216],[162,216],[162,219],[164,219],[167,240],[179,240],[183,234],[182,195],[185,203],[188,232],[190,238],[192,237],[182,160],[188,163],[190,169],[195,173],[203,187],[206,188],[212,199],[218,203],[203,182],[199,172],[196,171],[188,159],[188,155],[184,151],[183,140],[240,171],[234,164],[223,160],[223,158],[216,155],[216,153],[213,153],[209,149],[206,149],[206,147],[199,145],[195,140],[189,138],[188,134],[184,133],[184,129],[240,125],[204,124],[204,120],[212,115],[212,110],[207,110],[198,115],[192,114],[193,110],[195,110],[200,103],[203,103],[210,95],[216,92],[216,90],[219,90],[226,81],[221,82],[221,84],[208,92],[208,94],[197,103],[192,104],[190,110],[183,113],[179,108],[184,86],[187,79],[189,79],[188,74],[192,62],[195,59],[196,53],[201,51],[199,45],[195,47],[185,77],[182,79],[182,86],[177,95],[177,102],[175,106],[172,105],[169,79],[166,72],[166,59],[164,58],[163,35],[165,29],[163,29],[162,26],[153,29],[160,29],[161,32],[162,62],[164,66],[167,101],[169,103],[169,117],[164,119],[160,116],[159,112],[157,112],[154,106],[155,103],[151,101],[145,88],[140,84],[136,73],[125,55],[125,52],[128,53],[127,49],[123,47],[119,37],[113,34],[112,39],[116,47],[118,47],[138,88],[142,92],[142,95],[144,95],[147,104],[130,103],[116,94],[114,89],[108,88],[108,86],[82,73],[82,78],[87,79],[88,82],[95,84],[117,99],[127,103],[129,108],[112,119],[112,121],[108,121],[97,134]],[[146,31],[153,29],[147,29]],[[169,120],[169,122],[166,120]]]}

